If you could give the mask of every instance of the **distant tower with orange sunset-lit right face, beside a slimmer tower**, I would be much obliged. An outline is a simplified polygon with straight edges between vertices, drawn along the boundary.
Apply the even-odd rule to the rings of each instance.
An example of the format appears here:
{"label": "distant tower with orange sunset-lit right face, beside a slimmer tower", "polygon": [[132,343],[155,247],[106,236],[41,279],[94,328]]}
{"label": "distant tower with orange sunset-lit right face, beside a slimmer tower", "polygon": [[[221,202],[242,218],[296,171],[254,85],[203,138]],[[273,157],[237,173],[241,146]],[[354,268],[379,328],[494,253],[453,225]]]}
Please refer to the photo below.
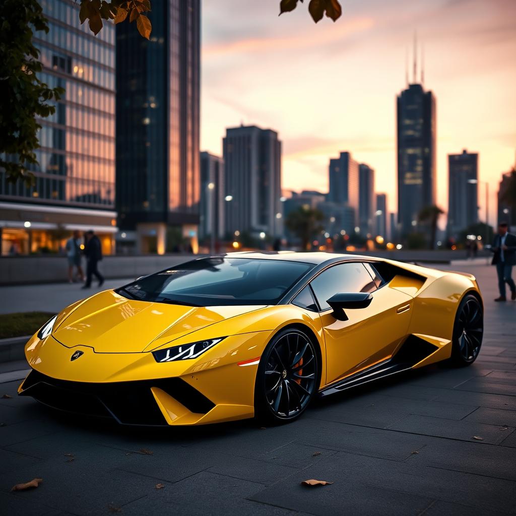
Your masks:
{"label": "distant tower with orange sunset-lit right face, beside a slimmer tower", "polygon": [[345,203],[353,209],[353,224],[358,223],[359,166],[349,152],[330,159],[328,201]]}

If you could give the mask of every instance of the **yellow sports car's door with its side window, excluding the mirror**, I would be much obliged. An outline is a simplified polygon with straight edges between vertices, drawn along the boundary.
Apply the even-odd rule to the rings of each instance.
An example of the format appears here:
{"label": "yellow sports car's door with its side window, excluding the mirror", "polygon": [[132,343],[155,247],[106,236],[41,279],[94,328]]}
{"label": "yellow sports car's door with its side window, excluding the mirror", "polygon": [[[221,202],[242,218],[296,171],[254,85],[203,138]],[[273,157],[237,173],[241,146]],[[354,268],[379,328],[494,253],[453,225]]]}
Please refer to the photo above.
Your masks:
{"label": "yellow sports car's door with its side window, excluding the mirror", "polygon": [[[361,262],[330,266],[310,285],[326,343],[326,384],[392,356],[409,327],[411,296],[382,285],[374,269]],[[346,310],[348,320],[338,320],[327,300],[340,292],[370,292],[373,299],[366,308]]]}

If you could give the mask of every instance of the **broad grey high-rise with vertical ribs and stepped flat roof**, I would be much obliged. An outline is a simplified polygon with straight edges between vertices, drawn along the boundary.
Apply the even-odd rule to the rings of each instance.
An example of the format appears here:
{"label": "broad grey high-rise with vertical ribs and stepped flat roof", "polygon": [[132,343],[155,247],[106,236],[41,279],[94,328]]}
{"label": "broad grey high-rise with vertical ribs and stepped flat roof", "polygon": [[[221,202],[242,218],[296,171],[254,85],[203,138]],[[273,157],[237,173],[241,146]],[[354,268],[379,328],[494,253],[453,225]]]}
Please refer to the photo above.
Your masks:
{"label": "broad grey high-rise with vertical ribs and stepped flat roof", "polygon": [[223,139],[226,231],[283,233],[281,142],[255,125],[230,127]]}

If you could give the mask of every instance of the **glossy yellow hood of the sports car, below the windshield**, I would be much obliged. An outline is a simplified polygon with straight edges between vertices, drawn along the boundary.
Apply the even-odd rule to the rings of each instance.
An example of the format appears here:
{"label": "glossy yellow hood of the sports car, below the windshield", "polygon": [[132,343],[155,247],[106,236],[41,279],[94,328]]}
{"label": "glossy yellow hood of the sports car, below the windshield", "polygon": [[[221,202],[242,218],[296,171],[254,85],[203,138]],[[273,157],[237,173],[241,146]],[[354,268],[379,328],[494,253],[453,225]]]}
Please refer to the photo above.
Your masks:
{"label": "glossy yellow hood of the sports car, below the windshield", "polygon": [[[97,353],[150,351],[183,335],[263,305],[185,307],[136,301],[114,291],[96,294],[58,319],[53,337],[67,347],[89,346]],[[214,335],[214,337],[224,335]]]}

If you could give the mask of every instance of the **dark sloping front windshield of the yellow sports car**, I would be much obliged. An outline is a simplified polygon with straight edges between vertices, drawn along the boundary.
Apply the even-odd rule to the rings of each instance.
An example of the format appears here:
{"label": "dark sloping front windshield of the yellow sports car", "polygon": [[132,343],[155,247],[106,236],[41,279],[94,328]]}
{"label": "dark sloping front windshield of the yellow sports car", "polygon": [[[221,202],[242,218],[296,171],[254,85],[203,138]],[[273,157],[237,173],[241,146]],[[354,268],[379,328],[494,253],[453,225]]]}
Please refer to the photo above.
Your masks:
{"label": "dark sloping front windshield of the yellow sports car", "polygon": [[209,257],[193,260],[118,289],[141,301],[198,307],[276,304],[313,264]]}

